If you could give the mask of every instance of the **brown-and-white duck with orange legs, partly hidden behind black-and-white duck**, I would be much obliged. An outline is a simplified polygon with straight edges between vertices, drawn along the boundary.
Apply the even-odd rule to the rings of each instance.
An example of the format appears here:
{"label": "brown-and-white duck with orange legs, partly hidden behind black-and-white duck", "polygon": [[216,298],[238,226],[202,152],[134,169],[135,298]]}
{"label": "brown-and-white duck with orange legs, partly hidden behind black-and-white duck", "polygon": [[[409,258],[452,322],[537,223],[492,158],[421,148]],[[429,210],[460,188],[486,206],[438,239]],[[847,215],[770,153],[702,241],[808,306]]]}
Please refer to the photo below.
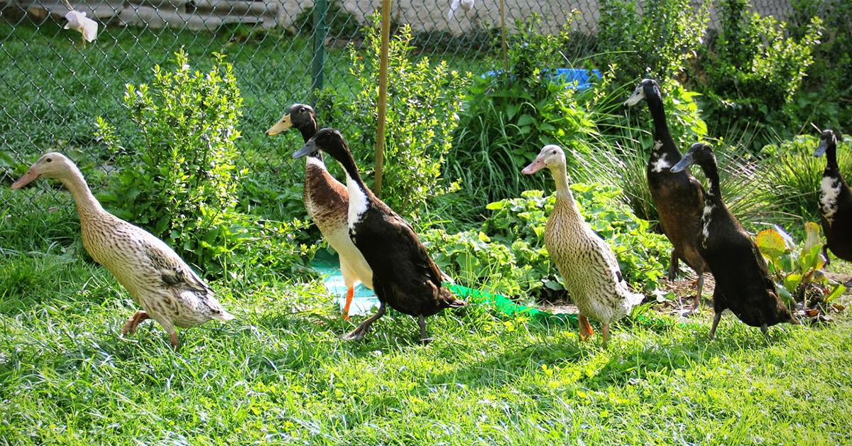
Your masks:
{"label": "brown-and-white duck with orange legs, partly hidden behind black-and-white duck", "polygon": [[[302,133],[304,142],[308,142],[317,132],[317,119],[314,107],[306,104],[293,104],[284,116],[267,130],[268,136],[278,135],[291,127]],[[349,193],[342,182],[337,181],[325,168],[322,153],[318,150],[305,157],[305,184],[302,200],[308,217],[316,223],[328,244],[340,258],[340,272],[346,285],[346,303],[343,305],[343,319],[349,320],[349,306],[354,297],[355,284],[360,281],[372,289],[372,269],[361,252],[349,239],[348,211]]]}

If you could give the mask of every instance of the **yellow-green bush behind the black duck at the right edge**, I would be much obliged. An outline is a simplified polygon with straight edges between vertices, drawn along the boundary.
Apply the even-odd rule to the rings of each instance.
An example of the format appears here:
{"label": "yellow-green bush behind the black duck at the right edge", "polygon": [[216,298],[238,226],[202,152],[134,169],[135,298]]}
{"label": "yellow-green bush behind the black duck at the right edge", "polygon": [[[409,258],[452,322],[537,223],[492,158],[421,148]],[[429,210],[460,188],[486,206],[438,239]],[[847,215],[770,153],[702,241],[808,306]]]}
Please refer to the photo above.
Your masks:
{"label": "yellow-green bush behind the black duck at the right edge", "polygon": [[[826,159],[814,158],[820,143],[818,136],[796,136],[791,141],[763,148],[762,175],[758,177],[766,200],[788,215],[805,221],[820,219],[820,182]],[[842,172],[852,172],[852,139],[838,140],[838,165]]]}

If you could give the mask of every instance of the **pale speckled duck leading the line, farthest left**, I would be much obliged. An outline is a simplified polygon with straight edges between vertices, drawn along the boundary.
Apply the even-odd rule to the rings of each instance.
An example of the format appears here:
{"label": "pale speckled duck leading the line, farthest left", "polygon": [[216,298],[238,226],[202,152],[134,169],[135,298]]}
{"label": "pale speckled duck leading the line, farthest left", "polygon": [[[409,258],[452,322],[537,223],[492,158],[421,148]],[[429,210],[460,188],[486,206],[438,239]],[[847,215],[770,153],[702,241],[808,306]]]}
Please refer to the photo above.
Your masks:
{"label": "pale speckled duck leading the line, farthest left", "polygon": [[141,321],[158,321],[171,345],[180,345],[175,327],[231,321],[210,286],[157,237],[105,211],[71,159],[45,153],[12,184],[24,187],[37,178],[59,180],[71,192],[80,217],[83,246],[95,262],[106,267],[142,310],[124,324],[122,335],[135,333]]}

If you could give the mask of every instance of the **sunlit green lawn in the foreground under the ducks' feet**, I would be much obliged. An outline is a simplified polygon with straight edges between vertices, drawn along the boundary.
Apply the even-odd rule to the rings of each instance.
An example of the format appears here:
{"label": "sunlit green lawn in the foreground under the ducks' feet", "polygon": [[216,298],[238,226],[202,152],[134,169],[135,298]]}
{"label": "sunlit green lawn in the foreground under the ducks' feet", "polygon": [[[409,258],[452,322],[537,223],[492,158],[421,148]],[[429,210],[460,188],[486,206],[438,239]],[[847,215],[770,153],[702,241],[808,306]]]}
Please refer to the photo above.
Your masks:
{"label": "sunlit green lawn in the foreground under the ducks' feet", "polygon": [[[710,310],[575,327],[481,305],[389,314],[337,335],[318,283],[214,287],[238,319],[182,330],[179,352],[107,271],[77,256],[0,256],[0,443],[841,444],[852,442],[852,319],[769,339]],[[360,320],[360,318],[354,318]]]}

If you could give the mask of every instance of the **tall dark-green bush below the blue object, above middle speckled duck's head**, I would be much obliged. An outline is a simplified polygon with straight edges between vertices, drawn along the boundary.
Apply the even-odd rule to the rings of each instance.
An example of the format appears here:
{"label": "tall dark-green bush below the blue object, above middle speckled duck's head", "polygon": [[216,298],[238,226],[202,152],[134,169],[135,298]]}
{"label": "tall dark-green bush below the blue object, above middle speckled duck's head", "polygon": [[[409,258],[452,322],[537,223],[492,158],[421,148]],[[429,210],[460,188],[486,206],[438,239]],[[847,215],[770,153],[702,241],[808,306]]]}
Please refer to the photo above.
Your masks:
{"label": "tall dark-green bush below the blue object, above middle speckled duck's head", "polygon": [[549,74],[568,63],[561,51],[570,29],[543,34],[540,21],[534,14],[516,20],[507,37],[508,67],[492,56],[489,65],[502,69],[475,77],[470,87],[445,173],[466,186],[452,210],[463,220],[478,222],[488,203],[544,188],[544,177],[523,176],[521,168],[545,144],[580,152],[604,145],[596,123],[606,120],[617,99],[599,95],[597,85],[582,92],[566,88],[564,78]]}

